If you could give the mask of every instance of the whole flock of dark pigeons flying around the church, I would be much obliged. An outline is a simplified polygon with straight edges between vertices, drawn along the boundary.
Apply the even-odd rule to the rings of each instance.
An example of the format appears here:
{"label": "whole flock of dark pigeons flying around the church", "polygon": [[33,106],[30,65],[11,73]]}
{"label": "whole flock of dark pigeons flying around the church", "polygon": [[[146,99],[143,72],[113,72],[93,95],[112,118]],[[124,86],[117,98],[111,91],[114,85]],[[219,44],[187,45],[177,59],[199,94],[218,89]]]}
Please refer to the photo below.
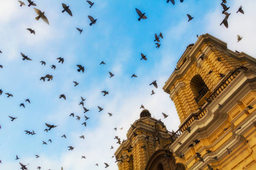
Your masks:
{"label": "whole flock of dark pigeons flying around the church", "polygon": [[[90,5],[90,8],[94,5],[94,2],[91,2],[91,1],[89,1],[89,0],[86,0],[86,1],[87,1],[87,3]],[[174,0],[167,0],[167,3],[168,3],[169,1],[172,2],[173,5],[175,4]],[[220,23],[220,25],[224,24],[225,27],[228,28],[228,17],[229,17],[229,15],[230,15],[230,13],[227,13],[227,11],[228,11],[229,7],[227,7],[227,6],[225,5],[226,0],[222,0],[222,1],[223,1],[223,2],[222,2],[220,5],[223,7],[223,12],[222,12],[222,13],[225,15],[225,18],[224,18],[224,20],[222,21],[222,23]],[[18,0],[18,2],[20,3],[20,7],[26,5],[25,2],[22,2],[22,1],[20,1],[20,0]],[[180,0],[180,2],[183,2],[183,0]],[[29,4],[28,4],[28,7],[30,7],[31,5],[32,5],[32,6],[36,6],[36,4],[35,4],[33,1],[31,1],[31,0],[28,0],[28,3],[29,3]],[[62,7],[63,7],[63,10],[61,11],[62,13],[67,12],[70,16],[73,16],[73,15],[72,15],[72,11],[69,9],[69,6],[67,6],[66,4],[62,3]],[[34,8],[34,10],[35,10],[36,14],[38,15],[35,19],[36,19],[36,20],[39,20],[39,19],[41,18],[42,20],[44,20],[45,23],[47,23],[47,24],[49,25],[49,21],[48,21],[48,19],[46,18],[45,12],[42,12],[41,10],[39,10],[39,9],[37,9],[37,8]],[[136,8],[136,12],[138,13],[138,16],[139,16],[138,21],[140,21],[141,19],[147,19],[145,13],[142,13],[142,12],[141,12],[140,10],[138,10],[137,8]],[[237,11],[236,13],[238,13],[238,12],[244,14],[244,12],[243,12],[243,10],[242,10],[242,6],[239,7],[239,9],[238,9],[238,11]],[[189,15],[189,14],[187,14],[187,17],[188,17],[188,22],[194,18],[194,17],[192,17],[192,16]],[[95,24],[96,21],[97,21],[97,19],[94,19],[94,18],[93,18],[92,16],[90,16],[90,15],[88,15],[88,18],[90,19],[90,24],[89,24],[90,26],[92,26],[93,24]],[[79,34],[81,34],[82,31],[83,31],[83,29],[81,29],[81,28],[76,28],[76,29],[79,31]],[[34,35],[36,34],[35,30],[33,30],[33,29],[31,29],[31,28],[27,28],[27,30],[28,30],[31,34],[32,34],[32,33],[33,33]],[[198,36],[198,35],[197,35],[197,36]],[[158,43],[158,42],[160,42],[160,40],[161,40],[160,38],[161,38],[161,39],[164,38],[164,37],[163,37],[163,34],[162,34],[161,32],[159,33],[159,35],[155,34],[155,40],[154,40],[154,42],[156,41],[156,43],[155,43],[155,44],[156,44],[156,48],[159,48],[160,45],[161,45],[161,44]],[[239,42],[242,38],[243,38],[243,37],[241,37],[241,36],[238,35],[238,42]],[[0,50],[0,53],[2,53],[1,50]],[[22,52],[20,52],[20,55],[21,55],[21,57],[22,57],[22,60],[24,60],[24,61],[25,61],[25,60],[29,60],[29,61],[32,60],[30,57],[28,57],[28,55],[25,55],[25,54],[23,54]],[[58,57],[58,58],[56,58],[56,60],[59,60],[58,62],[61,63],[61,64],[64,63],[64,58],[62,58],[62,57]],[[147,60],[146,55],[144,55],[144,54],[141,53],[141,60]],[[45,62],[45,61],[40,61],[40,63],[41,63],[41,65],[44,65],[44,66],[46,65],[46,62]],[[106,63],[105,63],[104,61],[102,61],[102,62],[100,62],[100,65],[106,65]],[[3,65],[0,65],[0,67],[3,68]],[[56,65],[51,65],[50,67],[51,67],[51,69],[54,69],[54,70],[56,69]],[[81,71],[82,71],[82,72],[84,73],[84,71],[85,71],[84,66],[82,66],[82,65],[77,65],[77,67],[78,67],[78,69],[77,69],[78,72],[81,72]],[[110,78],[111,78],[111,77],[113,77],[115,74],[113,74],[112,72],[109,71],[109,75],[110,75]],[[137,77],[137,75],[133,74],[131,77]],[[45,75],[45,76],[42,76],[39,80],[43,80],[43,81],[45,81],[45,80],[47,80],[47,81],[53,80],[53,75],[47,74],[47,75]],[[74,86],[79,85],[79,82],[76,82],[76,81],[73,81],[73,82],[74,82]],[[156,83],[156,80],[154,80],[153,82],[151,82],[149,85],[154,85],[154,87],[156,87],[156,88],[158,87],[158,86],[157,86],[157,83]],[[106,91],[106,90],[103,90],[103,91],[101,91],[101,92],[103,93],[103,96],[108,95],[108,91]],[[0,95],[2,95],[2,93],[3,93],[3,90],[0,89]],[[11,94],[11,93],[9,93],[9,92],[5,92],[5,94],[7,95],[7,97],[13,97],[13,94]],[[151,95],[154,95],[154,94],[155,94],[155,92],[154,92],[154,90],[152,90]],[[59,98],[60,98],[60,99],[63,98],[64,100],[67,99],[65,94],[59,95]],[[84,110],[84,113],[90,111],[89,109],[87,109],[86,107],[84,107],[84,101],[85,101],[85,100],[86,100],[85,98],[81,97],[81,102],[79,102],[79,105],[82,105],[82,108],[83,108],[83,110]],[[25,103],[26,103],[26,102],[29,103],[29,104],[31,103],[29,99],[26,99],[26,100],[25,100]],[[24,103],[20,103],[19,106],[20,106],[20,107],[22,106],[22,107],[25,108],[25,104],[24,104]],[[98,107],[98,109],[99,109],[99,112],[101,112],[101,111],[104,109],[104,108],[102,108],[102,107],[100,107],[100,106],[97,106],[97,107]],[[143,108],[143,109],[144,109],[144,106],[141,105],[140,108]],[[112,113],[108,113],[108,114],[109,114],[109,116],[112,116],[112,115],[113,115]],[[168,117],[168,115],[166,115],[165,113],[162,113],[162,114],[163,114],[164,118]],[[74,113],[71,113],[69,116],[70,116],[70,117],[74,117]],[[10,117],[11,121],[14,121],[15,119],[18,118],[18,117],[12,117],[12,116],[9,116],[9,117]],[[80,118],[81,118],[81,117],[79,117],[78,115],[77,115],[76,117],[77,117],[77,120],[80,120]],[[90,117],[87,117],[86,115],[84,115],[84,118],[85,118],[85,121],[88,120],[88,119],[90,119]],[[161,120],[161,119],[160,119],[160,120]],[[157,122],[160,122],[160,120],[158,120]],[[82,123],[82,125],[84,125],[84,126],[86,127],[87,124],[86,124],[85,121]],[[45,129],[44,131],[46,131],[46,132],[48,132],[48,131],[51,130],[52,128],[56,128],[56,127],[58,126],[58,125],[50,125],[50,124],[48,124],[48,123],[45,123],[45,125],[46,125],[46,129]],[[136,127],[134,127],[133,125],[131,125],[131,127],[132,127],[132,128],[136,128]],[[0,126],[0,129],[1,129],[1,126]],[[122,130],[122,129],[123,129],[123,128],[120,128],[120,130]],[[117,128],[114,128],[114,130],[117,130]],[[190,131],[189,129],[187,129],[187,130]],[[25,130],[24,132],[26,132],[27,135],[36,135],[36,133],[34,132],[34,130],[31,130],[31,131]],[[134,133],[134,135],[136,136],[137,134]],[[67,136],[64,134],[64,135],[61,136],[61,138],[67,138]],[[84,135],[81,135],[79,138],[84,139]],[[146,138],[149,138],[149,137],[146,137]],[[119,138],[118,136],[115,136],[114,139],[117,139],[117,140],[118,140],[117,143],[121,144],[120,138]],[[123,142],[124,142],[124,141],[125,141],[125,140],[123,140]],[[49,139],[48,142],[52,143],[52,140]],[[196,145],[197,143],[200,142],[200,140],[194,140],[194,142],[195,142],[195,145]],[[42,143],[42,144],[43,144],[43,145],[48,145],[48,143],[46,143],[44,140],[43,140],[43,143]],[[179,143],[179,144],[181,145],[181,143]],[[193,144],[189,145],[189,147],[191,147],[191,146],[193,146]],[[74,149],[73,146],[68,146],[67,148],[69,148],[69,150],[73,150],[73,149]],[[130,147],[128,148],[128,152],[131,152],[131,149],[132,149],[132,148],[133,148],[133,147],[130,146]],[[146,148],[143,147],[143,146],[142,146],[141,148],[143,148],[144,150],[146,149]],[[110,149],[113,149],[113,146],[111,146]],[[230,151],[228,148],[227,148],[227,150],[228,150],[228,153],[231,153],[231,151]],[[210,153],[211,151],[208,150],[207,152]],[[196,153],[196,154],[197,154],[197,157],[200,158],[200,161],[203,162],[202,158],[200,157],[201,155],[200,155],[199,153]],[[35,156],[36,156],[36,158],[39,158],[39,157],[40,157],[39,155],[35,155]],[[182,156],[184,156],[184,155],[183,155],[182,153],[180,153],[180,157],[181,157],[181,158],[182,158]],[[112,156],[112,158],[114,158],[114,156]],[[15,160],[18,160],[18,159],[20,159],[20,158],[18,157],[18,155],[16,155],[16,159],[15,159]],[[82,159],[86,159],[86,157],[85,157],[84,155],[82,155]],[[214,158],[214,159],[215,159],[215,160],[218,160],[217,157]],[[118,159],[118,158],[116,158],[116,161],[115,161],[115,162],[118,162],[118,161],[122,161],[122,162],[123,162],[123,159]],[[0,163],[2,163],[1,160],[0,160]],[[107,168],[107,167],[109,166],[108,163],[104,163],[104,164],[105,164],[105,168]],[[27,164],[27,165],[29,165],[29,164]],[[24,164],[20,163],[20,166],[21,166],[20,169],[22,169],[22,170],[27,170],[27,169],[28,169],[28,168],[27,168],[27,165],[24,165]],[[98,163],[95,164],[95,165],[96,165],[96,166],[99,166]],[[210,165],[209,165],[209,166],[210,166]],[[209,167],[209,166],[208,166],[208,167]],[[37,169],[40,170],[41,167],[38,166]],[[209,169],[210,169],[210,167],[209,167]],[[63,170],[62,167],[61,167],[61,170]]]}

